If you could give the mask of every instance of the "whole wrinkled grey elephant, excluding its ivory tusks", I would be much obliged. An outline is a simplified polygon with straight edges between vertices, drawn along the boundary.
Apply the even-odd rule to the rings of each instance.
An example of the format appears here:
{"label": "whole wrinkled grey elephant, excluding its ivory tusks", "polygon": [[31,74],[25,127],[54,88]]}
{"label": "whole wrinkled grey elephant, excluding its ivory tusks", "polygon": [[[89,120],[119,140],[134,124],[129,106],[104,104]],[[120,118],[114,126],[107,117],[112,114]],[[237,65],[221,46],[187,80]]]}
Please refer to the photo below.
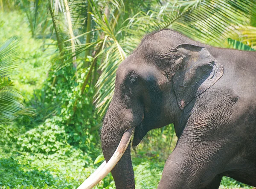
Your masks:
{"label": "whole wrinkled grey elephant, excluding its ivory tusks", "polygon": [[[223,175],[256,186],[255,94],[255,52],[211,47],[171,30],[148,35],[116,72],[104,157],[129,127],[136,146],[149,130],[174,123],[178,141],[159,189],[218,189]],[[117,189],[135,187],[130,145],[111,173]]]}

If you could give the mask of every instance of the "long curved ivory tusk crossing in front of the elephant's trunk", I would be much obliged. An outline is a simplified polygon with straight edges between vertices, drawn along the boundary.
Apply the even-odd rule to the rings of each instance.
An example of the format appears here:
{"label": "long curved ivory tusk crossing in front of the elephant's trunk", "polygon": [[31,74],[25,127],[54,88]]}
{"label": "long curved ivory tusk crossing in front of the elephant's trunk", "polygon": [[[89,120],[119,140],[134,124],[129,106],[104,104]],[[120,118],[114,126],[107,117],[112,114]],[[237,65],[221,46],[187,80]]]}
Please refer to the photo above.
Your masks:
{"label": "long curved ivory tusk crossing in front of the elephant's trunk", "polygon": [[93,172],[90,177],[88,177],[77,189],[92,189],[93,186],[98,184],[104,177],[107,176],[109,172],[116,166],[116,163],[119,162],[122,155],[125,153],[126,148],[128,147],[131,137],[134,133],[134,128],[128,128],[120,140],[120,143],[118,147],[116,148],[116,151],[110,158],[107,164],[105,162],[102,163],[101,166],[99,166],[98,169],[96,169],[95,172]]}

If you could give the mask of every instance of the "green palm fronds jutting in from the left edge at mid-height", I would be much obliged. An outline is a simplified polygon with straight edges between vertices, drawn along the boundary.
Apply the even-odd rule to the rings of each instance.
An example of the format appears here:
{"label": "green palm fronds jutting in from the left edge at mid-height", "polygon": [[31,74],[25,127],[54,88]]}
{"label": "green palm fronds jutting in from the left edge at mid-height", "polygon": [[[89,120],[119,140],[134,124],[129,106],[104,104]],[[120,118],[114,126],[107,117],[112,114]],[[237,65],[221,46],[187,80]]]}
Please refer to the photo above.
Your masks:
{"label": "green palm fronds jutting in from the left edge at mid-height", "polygon": [[17,68],[16,49],[16,38],[0,44],[0,122],[13,120],[21,114],[33,114],[32,110],[24,108],[23,98],[11,81]]}

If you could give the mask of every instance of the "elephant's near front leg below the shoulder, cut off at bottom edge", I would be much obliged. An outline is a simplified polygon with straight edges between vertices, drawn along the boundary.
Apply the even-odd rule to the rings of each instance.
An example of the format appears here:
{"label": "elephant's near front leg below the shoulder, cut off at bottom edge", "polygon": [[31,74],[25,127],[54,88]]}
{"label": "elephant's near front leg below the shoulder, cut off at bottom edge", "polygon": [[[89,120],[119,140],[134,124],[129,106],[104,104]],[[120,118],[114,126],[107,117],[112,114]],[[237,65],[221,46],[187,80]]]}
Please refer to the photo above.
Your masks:
{"label": "elephant's near front leg below the shoulder, cut off at bottom edge", "polygon": [[158,189],[217,189],[221,177],[216,175],[225,172],[230,158],[239,148],[233,145],[233,140],[212,139],[211,136],[217,136],[215,132],[192,131],[198,130],[184,129],[166,161]]}

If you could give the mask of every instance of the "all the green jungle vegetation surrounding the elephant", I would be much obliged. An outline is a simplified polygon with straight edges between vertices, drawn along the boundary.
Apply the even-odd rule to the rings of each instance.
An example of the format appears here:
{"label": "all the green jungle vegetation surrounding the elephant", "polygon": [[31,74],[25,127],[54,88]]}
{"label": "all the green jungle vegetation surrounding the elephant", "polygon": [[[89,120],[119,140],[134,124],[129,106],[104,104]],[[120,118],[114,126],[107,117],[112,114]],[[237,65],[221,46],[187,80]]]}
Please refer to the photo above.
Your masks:
{"label": "all the green jungle vegetation surrounding the elephant", "polygon": [[[254,51],[256,2],[0,0],[0,188],[79,186],[104,159],[99,133],[118,65],[166,28]],[[176,141],[167,125],[133,151],[138,189],[157,187]],[[115,188],[111,175],[96,188]],[[251,187],[224,177],[221,188]]]}

